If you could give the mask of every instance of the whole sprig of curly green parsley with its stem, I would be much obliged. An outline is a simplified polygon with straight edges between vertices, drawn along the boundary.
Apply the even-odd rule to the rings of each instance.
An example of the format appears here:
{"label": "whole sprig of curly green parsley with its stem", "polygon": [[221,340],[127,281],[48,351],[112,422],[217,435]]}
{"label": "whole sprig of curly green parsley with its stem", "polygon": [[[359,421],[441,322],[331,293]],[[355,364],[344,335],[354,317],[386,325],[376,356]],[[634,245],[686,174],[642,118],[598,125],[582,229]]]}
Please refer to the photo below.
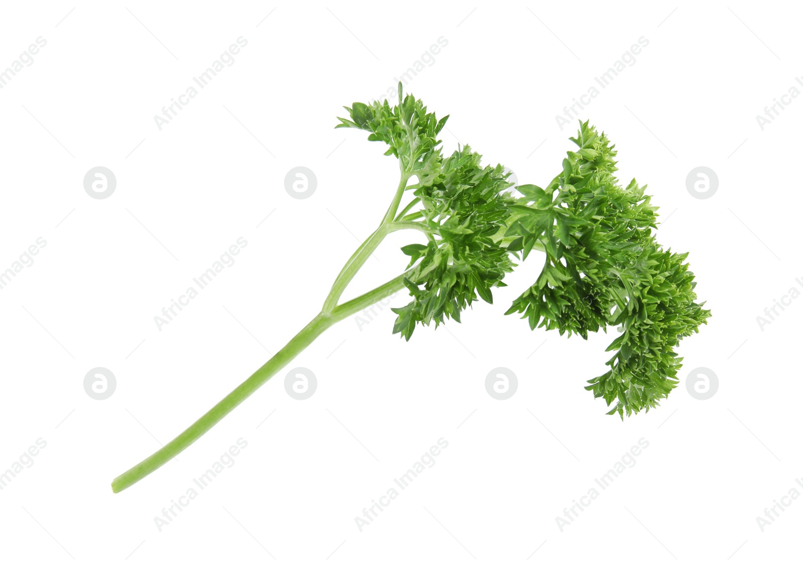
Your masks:
{"label": "whole sprig of curly green parsley with its stem", "polygon": [[[508,313],[523,313],[530,327],[557,328],[586,338],[589,331],[619,325],[622,335],[609,346],[616,354],[610,370],[589,380],[587,390],[605,398],[609,414],[624,418],[655,407],[677,385],[680,359],[672,350],[680,338],[698,330],[710,312],[695,303],[693,275],[686,255],[663,251],[655,242],[656,207],[635,181],[626,189],[613,177],[613,146],[588,123],[581,124],[579,148],[569,152],[563,171],[545,188],[507,190],[502,165],[480,164],[481,156],[463,146],[441,153],[440,120],[412,95],[391,107],[387,100],[345,107],[349,119],[336,128],[370,132],[383,141],[385,155],[399,163],[393,200],[377,229],[357,248],[337,275],[323,308],[296,337],[243,384],[159,451],[112,481],[120,492],[184,451],[308,347],[322,332],[406,288],[411,301],[393,308],[393,332],[410,340],[417,324],[438,326],[475,300],[492,303],[491,288],[504,275],[542,251],[546,260],[535,284]],[[402,207],[402,201],[408,202]],[[385,284],[340,302],[340,296],[389,233],[419,230],[426,244],[402,247],[410,263]]]}

